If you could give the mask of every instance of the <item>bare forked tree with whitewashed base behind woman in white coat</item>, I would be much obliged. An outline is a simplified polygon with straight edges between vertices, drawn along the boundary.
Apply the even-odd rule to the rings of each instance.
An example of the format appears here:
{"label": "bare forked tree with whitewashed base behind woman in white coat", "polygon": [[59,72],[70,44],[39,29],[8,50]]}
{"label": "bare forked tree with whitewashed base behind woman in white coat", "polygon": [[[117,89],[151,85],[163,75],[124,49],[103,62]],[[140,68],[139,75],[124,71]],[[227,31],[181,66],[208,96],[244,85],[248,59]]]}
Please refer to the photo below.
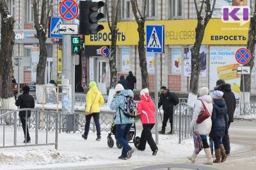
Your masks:
{"label": "bare forked tree with whitewashed base behind woman in white coat", "polygon": [[[193,105],[195,103],[195,99],[197,97],[198,91],[198,79],[201,71],[200,68],[200,47],[202,45],[202,41],[204,38],[205,28],[212,17],[212,12],[214,10],[214,6],[216,0],[213,1],[211,6],[211,0],[202,0],[200,1],[200,8],[196,4],[196,0],[194,0],[195,8],[196,8],[196,16],[197,16],[197,26],[196,26],[196,40],[191,47],[191,79],[189,84],[189,98],[188,104]],[[202,14],[202,10],[205,7],[205,14]],[[203,16],[205,15],[205,16]]]}

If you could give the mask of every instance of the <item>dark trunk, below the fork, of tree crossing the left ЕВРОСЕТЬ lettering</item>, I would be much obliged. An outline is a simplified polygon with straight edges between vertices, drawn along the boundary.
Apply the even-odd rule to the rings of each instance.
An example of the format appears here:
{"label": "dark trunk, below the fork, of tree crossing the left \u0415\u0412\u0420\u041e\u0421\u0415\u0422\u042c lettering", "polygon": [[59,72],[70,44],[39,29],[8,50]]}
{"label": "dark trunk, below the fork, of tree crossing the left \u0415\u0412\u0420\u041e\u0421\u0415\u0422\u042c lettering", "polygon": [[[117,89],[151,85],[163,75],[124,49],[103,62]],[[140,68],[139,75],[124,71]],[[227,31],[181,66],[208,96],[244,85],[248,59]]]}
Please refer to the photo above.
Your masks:
{"label": "dark trunk, below the fork, of tree crossing the left \u0415\u0412\u0420\u041e\u0421\u0415\u0422\u042c lettering", "polygon": [[117,29],[116,26],[111,30],[111,47],[110,47],[110,57],[109,57],[109,67],[110,67],[110,86],[109,88],[115,88],[117,83],[117,69],[116,69],[116,39],[117,39]]}

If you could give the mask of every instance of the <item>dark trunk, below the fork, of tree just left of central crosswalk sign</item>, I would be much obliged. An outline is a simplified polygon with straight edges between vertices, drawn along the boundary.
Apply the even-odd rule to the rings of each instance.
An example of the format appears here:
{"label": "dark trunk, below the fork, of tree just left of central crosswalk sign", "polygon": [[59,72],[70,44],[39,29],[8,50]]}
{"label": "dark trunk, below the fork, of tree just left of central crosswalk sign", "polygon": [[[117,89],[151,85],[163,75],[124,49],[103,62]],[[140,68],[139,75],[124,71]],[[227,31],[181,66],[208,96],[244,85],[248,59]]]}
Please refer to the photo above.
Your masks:
{"label": "dark trunk, below the fork, of tree just left of central crosswalk sign", "polygon": [[[145,56],[145,20],[141,20],[138,24],[138,33],[139,33],[139,58],[140,58],[140,70],[141,70],[141,80],[142,88],[148,88],[148,70],[147,70],[147,59]],[[157,71],[157,70],[156,70]]]}

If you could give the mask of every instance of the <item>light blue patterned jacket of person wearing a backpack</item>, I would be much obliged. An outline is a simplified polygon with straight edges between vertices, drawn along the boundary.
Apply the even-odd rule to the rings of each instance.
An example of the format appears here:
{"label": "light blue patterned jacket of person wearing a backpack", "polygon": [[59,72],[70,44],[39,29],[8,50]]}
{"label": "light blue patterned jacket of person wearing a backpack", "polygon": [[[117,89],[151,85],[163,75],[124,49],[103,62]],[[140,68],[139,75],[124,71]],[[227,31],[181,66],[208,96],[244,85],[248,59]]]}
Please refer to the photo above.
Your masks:
{"label": "light blue patterned jacket of person wearing a backpack", "polygon": [[[115,120],[114,123],[116,124],[126,124],[126,123],[134,123],[134,119],[133,118],[128,118],[127,116],[124,115],[124,113],[122,112],[122,110],[125,110],[125,100],[126,97],[133,97],[133,92],[131,91],[131,89],[124,89],[122,90],[118,95],[116,95],[115,98],[113,98],[113,100],[111,101],[110,104],[110,109],[112,110],[116,110],[115,113]],[[119,108],[121,107],[121,109]]]}

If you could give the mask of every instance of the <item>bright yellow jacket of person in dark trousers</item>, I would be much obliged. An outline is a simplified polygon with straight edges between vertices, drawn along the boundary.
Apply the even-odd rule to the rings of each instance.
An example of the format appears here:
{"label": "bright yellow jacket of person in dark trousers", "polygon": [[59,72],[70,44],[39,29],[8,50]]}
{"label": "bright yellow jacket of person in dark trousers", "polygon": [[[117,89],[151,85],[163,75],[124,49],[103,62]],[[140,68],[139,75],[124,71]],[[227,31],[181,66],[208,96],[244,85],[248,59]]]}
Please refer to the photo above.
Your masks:
{"label": "bright yellow jacket of person in dark trousers", "polygon": [[[94,102],[93,102],[94,101]],[[97,86],[90,88],[86,95],[86,107],[85,112],[90,112],[92,107],[92,112],[100,112],[100,106],[104,104],[104,98],[100,93]]]}

